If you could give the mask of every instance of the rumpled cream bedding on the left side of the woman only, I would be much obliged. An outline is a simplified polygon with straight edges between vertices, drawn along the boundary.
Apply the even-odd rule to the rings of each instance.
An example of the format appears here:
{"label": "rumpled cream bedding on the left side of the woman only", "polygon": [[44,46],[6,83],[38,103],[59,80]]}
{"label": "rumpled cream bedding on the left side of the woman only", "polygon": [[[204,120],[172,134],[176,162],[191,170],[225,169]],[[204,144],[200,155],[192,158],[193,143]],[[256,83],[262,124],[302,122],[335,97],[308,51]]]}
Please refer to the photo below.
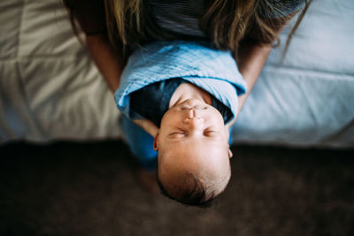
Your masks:
{"label": "rumpled cream bedding on the left side of the woman only", "polygon": [[112,95],[60,1],[1,1],[0,11],[1,141],[120,137]]}

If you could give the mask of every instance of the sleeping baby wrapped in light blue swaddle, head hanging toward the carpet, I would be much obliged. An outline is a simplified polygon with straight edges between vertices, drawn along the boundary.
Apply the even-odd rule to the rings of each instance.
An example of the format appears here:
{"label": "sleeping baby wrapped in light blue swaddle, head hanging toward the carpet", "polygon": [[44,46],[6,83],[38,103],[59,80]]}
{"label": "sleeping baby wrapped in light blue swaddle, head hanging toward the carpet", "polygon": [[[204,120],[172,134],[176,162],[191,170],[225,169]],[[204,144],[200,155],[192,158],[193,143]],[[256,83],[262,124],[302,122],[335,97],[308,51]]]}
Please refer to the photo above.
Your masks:
{"label": "sleeping baby wrapped in light blue swaddle, head hanging toward the carpet", "polygon": [[161,192],[209,206],[231,176],[230,128],[246,84],[228,51],[206,41],[159,41],[135,49],[115,101],[133,154],[157,169]]}

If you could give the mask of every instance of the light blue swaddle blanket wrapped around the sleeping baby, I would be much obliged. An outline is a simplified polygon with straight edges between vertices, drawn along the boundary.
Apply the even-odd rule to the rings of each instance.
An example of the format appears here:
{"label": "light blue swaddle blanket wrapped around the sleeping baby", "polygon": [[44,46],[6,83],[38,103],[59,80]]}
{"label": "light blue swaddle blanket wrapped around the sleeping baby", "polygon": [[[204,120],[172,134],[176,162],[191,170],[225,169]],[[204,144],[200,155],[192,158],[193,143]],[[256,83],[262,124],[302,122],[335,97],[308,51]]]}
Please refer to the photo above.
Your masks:
{"label": "light blue swaddle blanket wrapped around the sleeping baby", "polygon": [[[121,75],[114,95],[118,109],[129,117],[130,94],[151,83],[172,78],[188,80],[209,92],[232,111],[246,92],[246,83],[229,51],[208,41],[157,41],[135,49]],[[149,103],[149,98],[147,98]],[[131,119],[138,119],[134,117]]]}

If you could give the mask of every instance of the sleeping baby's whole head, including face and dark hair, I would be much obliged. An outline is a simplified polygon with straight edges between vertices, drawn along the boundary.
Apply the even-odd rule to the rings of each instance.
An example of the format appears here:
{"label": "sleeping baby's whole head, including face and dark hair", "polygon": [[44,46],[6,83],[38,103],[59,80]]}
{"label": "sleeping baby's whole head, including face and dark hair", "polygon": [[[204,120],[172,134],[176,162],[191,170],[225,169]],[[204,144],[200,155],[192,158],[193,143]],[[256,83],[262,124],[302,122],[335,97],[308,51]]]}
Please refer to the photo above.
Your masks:
{"label": "sleeping baby's whole head, including face and dark hair", "polygon": [[211,105],[189,99],[167,110],[154,148],[158,183],[170,198],[208,206],[227,187],[232,156],[228,131]]}

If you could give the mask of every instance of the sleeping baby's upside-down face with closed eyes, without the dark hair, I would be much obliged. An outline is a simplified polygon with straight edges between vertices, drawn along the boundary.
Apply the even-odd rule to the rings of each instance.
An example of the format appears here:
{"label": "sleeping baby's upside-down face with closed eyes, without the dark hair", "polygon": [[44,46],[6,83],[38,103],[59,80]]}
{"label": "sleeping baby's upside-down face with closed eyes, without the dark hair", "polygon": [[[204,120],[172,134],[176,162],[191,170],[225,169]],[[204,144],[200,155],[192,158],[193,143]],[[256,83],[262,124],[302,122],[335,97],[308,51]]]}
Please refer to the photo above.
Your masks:
{"label": "sleeping baby's upside-down face with closed eyes, without the dark hair", "polygon": [[170,174],[191,171],[201,179],[229,178],[227,132],[219,110],[211,105],[193,99],[170,108],[156,140],[160,176],[169,179]]}

